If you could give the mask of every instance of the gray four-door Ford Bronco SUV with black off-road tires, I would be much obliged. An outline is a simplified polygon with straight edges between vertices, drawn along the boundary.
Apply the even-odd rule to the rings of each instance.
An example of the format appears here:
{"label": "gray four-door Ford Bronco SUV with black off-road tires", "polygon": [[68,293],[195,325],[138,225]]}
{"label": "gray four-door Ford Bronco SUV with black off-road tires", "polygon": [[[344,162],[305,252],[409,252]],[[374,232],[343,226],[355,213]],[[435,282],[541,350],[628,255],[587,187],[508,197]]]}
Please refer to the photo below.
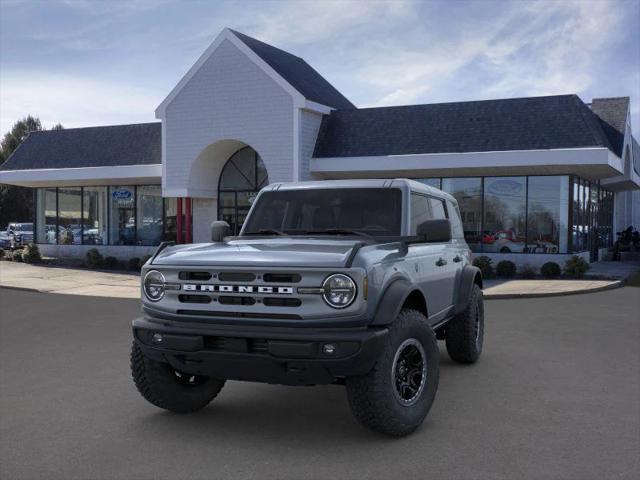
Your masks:
{"label": "gray four-door Ford Bronco SUV with black off-road tires", "polygon": [[236,237],[161,245],[142,268],[133,380],[193,412],[226,380],[345,385],[365,426],[406,435],[438,387],[439,349],[482,351],[480,271],[456,200],[405,180],[272,184]]}

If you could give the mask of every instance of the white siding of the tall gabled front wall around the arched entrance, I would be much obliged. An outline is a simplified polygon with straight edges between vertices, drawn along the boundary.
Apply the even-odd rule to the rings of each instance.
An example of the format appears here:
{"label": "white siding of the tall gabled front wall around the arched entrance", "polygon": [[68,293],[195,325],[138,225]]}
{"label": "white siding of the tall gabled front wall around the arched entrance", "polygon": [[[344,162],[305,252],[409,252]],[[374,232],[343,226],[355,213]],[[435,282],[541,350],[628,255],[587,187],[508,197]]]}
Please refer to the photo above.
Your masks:
{"label": "white siding of the tall gabled front wall around the arched entrance", "polygon": [[[291,181],[293,111],[291,95],[224,40],[167,106],[165,194],[215,197],[217,178],[203,188],[192,168],[205,147],[229,139],[260,154],[270,182]],[[207,161],[219,172],[227,158]]]}

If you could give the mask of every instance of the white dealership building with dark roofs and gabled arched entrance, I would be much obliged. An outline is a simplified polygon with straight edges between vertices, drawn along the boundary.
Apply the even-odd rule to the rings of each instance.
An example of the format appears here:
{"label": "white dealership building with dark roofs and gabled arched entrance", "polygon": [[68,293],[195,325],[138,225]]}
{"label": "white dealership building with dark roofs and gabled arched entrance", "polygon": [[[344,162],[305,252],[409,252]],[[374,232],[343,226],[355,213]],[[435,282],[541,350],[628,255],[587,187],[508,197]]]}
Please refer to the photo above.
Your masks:
{"label": "white dealership building with dark roofs and gabled arched entrance", "polygon": [[35,241],[52,256],[206,242],[216,219],[237,232],[267,184],[407,177],[457,198],[477,254],[594,261],[616,231],[640,227],[629,104],[558,95],[358,108],[303,59],[225,29],[158,122],[33,132],[0,183],[34,189]]}

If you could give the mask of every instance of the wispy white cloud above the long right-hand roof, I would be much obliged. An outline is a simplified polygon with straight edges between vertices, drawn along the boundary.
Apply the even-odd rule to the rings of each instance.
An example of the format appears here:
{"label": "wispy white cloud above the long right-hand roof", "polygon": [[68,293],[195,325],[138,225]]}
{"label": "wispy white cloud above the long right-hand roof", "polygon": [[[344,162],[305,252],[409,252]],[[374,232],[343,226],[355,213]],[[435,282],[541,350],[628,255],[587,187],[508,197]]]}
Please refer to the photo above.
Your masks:
{"label": "wispy white cloud above the long right-hand roof", "polygon": [[[608,2],[515,2],[491,24],[475,22],[436,38],[431,23],[413,43],[389,38],[358,52],[356,82],[369,104],[580,93],[599,56],[619,36],[622,14]],[[505,5],[506,6],[506,5]],[[419,31],[416,25],[407,29]],[[374,52],[372,55],[371,52]],[[452,98],[453,97],[453,98]]]}

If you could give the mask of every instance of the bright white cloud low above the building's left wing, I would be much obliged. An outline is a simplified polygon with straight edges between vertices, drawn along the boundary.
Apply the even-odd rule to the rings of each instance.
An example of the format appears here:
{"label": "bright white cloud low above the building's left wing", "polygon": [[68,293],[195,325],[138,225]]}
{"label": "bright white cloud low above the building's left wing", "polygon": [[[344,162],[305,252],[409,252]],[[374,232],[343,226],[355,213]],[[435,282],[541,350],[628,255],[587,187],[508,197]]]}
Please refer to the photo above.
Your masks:
{"label": "bright white cloud low above the building's left wing", "polygon": [[28,114],[39,117],[47,128],[58,122],[72,128],[153,121],[164,94],[76,75],[5,74],[0,83],[0,132]]}

